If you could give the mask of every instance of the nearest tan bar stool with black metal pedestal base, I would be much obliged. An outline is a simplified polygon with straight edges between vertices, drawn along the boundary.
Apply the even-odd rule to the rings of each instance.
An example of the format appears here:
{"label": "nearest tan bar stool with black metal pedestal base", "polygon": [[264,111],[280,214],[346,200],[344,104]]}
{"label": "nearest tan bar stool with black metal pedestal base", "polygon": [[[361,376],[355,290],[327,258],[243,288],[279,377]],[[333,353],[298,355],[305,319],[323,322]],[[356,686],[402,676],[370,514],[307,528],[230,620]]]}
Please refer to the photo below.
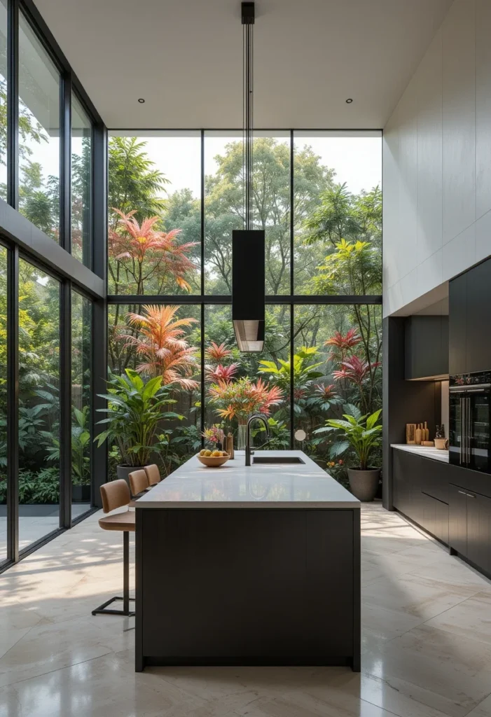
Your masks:
{"label": "nearest tan bar stool with black metal pedestal base", "polygon": [[[142,473],[145,473],[142,471]],[[105,483],[100,486],[100,495],[103,499],[104,513],[110,513],[116,508],[128,507],[130,503],[130,489],[125,480],[113,480],[111,483]],[[107,516],[99,519],[99,525],[105,531],[123,531],[123,597],[112,597],[95,610],[92,615],[110,614],[110,615],[126,615],[132,617],[135,613],[130,612],[130,600],[134,602],[135,598],[130,597],[130,533],[135,532],[135,513],[129,509],[124,513],[115,513],[114,516]],[[123,609],[108,609],[108,605],[116,600],[123,600]]]}

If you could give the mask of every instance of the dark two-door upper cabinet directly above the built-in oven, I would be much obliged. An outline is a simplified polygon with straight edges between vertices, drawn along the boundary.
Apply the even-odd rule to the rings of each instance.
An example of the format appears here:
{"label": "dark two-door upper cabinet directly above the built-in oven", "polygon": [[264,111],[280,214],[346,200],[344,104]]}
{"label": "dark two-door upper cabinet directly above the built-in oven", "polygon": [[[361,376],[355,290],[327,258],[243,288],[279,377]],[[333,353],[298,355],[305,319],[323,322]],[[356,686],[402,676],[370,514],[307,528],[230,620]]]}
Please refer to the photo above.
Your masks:
{"label": "dark two-door upper cabinet directly above the built-in oven", "polygon": [[449,282],[449,372],[491,370],[491,260]]}

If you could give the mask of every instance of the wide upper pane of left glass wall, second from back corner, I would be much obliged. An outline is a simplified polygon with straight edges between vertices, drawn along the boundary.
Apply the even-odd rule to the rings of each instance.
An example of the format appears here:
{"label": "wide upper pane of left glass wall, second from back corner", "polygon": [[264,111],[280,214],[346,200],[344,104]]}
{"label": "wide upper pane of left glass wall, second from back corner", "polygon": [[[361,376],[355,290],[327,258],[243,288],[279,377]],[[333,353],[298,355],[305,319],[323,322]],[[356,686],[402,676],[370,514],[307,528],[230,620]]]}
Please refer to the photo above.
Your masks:
{"label": "wide upper pane of left glass wall, second from back corner", "polygon": [[59,242],[59,72],[19,12],[19,212]]}

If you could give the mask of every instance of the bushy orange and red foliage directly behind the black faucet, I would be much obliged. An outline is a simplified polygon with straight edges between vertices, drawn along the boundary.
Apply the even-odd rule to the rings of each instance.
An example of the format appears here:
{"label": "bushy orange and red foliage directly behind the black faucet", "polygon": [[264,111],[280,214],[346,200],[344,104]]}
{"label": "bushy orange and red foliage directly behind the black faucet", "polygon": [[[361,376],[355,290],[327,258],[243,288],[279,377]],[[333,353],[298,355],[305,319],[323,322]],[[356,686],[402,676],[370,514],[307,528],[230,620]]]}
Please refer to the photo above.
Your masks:
{"label": "bushy orange and red foliage directly behind the black faucet", "polygon": [[269,416],[271,407],[282,402],[283,391],[279,386],[264,383],[262,379],[254,383],[247,376],[242,376],[233,383],[218,381],[212,384],[208,396],[219,416],[228,420],[237,418],[239,424],[244,424],[253,413]]}

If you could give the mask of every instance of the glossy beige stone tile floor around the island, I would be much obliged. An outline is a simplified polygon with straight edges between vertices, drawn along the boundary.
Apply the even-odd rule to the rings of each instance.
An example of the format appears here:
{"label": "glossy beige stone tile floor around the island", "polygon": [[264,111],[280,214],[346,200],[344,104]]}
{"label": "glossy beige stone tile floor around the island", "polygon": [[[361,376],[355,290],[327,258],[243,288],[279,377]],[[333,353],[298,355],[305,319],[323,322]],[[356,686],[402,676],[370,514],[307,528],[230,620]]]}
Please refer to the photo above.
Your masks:
{"label": "glossy beige stone tile floor around the island", "polygon": [[362,550],[360,675],[135,674],[133,619],[90,615],[120,592],[122,556],[91,516],[0,576],[0,717],[490,717],[490,581],[379,504]]}

